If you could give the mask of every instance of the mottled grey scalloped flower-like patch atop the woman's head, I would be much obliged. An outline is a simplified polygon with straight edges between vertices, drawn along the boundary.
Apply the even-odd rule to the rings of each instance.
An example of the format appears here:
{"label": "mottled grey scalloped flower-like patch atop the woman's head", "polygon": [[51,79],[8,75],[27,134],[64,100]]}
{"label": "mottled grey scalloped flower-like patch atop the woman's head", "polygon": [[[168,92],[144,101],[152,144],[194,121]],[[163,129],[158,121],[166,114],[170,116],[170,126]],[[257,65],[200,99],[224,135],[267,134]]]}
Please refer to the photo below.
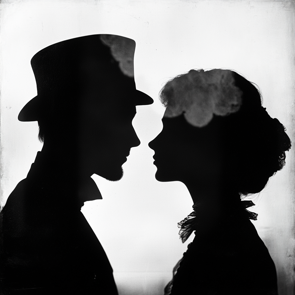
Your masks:
{"label": "mottled grey scalloped flower-like patch atop the woman's head", "polygon": [[164,117],[184,113],[186,121],[195,127],[206,126],[213,114],[227,116],[242,105],[242,91],[235,86],[232,71],[190,70],[168,81],[160,93],[166,106]]}

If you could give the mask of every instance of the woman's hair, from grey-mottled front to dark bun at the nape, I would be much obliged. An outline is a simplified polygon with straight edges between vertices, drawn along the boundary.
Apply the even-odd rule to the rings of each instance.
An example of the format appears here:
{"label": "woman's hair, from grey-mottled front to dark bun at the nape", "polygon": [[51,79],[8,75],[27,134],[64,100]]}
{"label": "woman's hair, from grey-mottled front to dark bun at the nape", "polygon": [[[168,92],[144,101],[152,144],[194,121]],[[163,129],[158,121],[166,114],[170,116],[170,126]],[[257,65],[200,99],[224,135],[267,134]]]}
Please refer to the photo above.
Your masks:
{"label": "woman's hair, from grey-mottled front to dark bun at the nape", "polygon": [[[209,72],[212,72],[213,76]],[[234,83],[231,83],[230,78],[224,78],[229,77],[229,72]],[[203,78],[202,75],[211,78]],[[218,75],[222,78],[217,79],[215,83],[214,79]],[[200,81],[203,86],[194,85]],[[204,81],[207,81],[207,85]],[[181,91],[177,89],[178,85],[181,85]],[[194,91],[191,91],[192,87]],[[201,95],[196,95],[198,87],[201,89]],[[186,93],[190,91],[194,95],[188,99]],[[217,95],[217,92],[220,95]],[[212,95],[213,102],[208,106],[204,101],[212,100]],[[202,103],[198,102],[200,96]],[[226,103],[225,96],[229,97],[229,103]],[[189,113],[186,121],[196,128],[214,126],[216,131],[213,136],[219,139],[222,160],[227,169],[225,171],[229,172],[227,176],[240,194],[260,192],[269,177],[285,165],[285,151],[291,148],[285,127],[278,119],[268,115],[261,105],[258,89],[238,73],[229,70],[191,70],[168,81],[160,91],[160,101],[166,106],[164,117],[178,116],[181,111],[184,117]],[[225,106],[222,112],[218,111],[220,105]],[[191,111],[192,108],[195,110]],[[206,114],[207,118],[204,117],[205,119],[200,121],[203,123],[192,118],[192,114],[200,116],[202,113]]]}

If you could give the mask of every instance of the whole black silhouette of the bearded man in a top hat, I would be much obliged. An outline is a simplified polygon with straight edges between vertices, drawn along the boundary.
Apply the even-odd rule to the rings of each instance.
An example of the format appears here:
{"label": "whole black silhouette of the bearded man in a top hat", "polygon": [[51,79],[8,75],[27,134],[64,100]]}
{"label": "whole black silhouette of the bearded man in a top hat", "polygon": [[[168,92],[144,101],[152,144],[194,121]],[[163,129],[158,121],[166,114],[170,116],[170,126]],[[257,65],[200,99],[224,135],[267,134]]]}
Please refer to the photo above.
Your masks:
{"label": "whole black silhouette of the bearded man in a top hat", "polygon": [[134,50],[131,39],[90,35],[32,58],[38,95],[19,120],[37,120],[44,145],[1,211],[3,294],[117,294],[80,209],[101,199],[90,176],[119,180],[130,148],[140,144],[135,106],[153,100],[135,88]]}

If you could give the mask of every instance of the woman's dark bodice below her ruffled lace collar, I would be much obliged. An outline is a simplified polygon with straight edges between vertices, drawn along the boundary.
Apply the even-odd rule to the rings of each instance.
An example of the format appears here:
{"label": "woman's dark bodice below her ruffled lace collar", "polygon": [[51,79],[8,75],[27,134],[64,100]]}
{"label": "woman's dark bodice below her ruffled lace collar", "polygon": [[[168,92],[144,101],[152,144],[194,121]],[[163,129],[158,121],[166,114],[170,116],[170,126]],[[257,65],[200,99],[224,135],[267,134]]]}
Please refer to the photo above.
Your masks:
{"label": "woman's dark bodice below her ruffled lace collar", "polygon": [[220,220],[210,232],[195,234],[171,295],[278,294],[275,265],[249,219]]}

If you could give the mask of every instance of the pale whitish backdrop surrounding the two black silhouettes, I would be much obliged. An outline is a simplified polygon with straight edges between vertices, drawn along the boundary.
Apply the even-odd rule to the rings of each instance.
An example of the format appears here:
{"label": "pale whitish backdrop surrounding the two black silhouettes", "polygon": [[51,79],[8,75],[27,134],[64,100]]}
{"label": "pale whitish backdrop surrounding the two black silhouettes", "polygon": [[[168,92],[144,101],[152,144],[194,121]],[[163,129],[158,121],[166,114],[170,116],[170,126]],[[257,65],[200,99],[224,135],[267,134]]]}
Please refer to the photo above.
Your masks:
{"label": "pale whitish backdrop surrounding the two black silhouettes", "polygon": [[[155,103],[137,107],[133,125],[141,145],[132,148],[122,180],[94,175],[103,199],[86,202],[82,212],[109,257],[119,293],[163,294],[193,238],[182,244],[177,228],[193,204],[182,183],[154,178],[148,142],[162,129],[158,92],[169,78],[191,68],[234,69],[258,84],[263,106],[294,142],[294,4],[43,0],[1,1],[0,8],[2,207],[42,148],[37,122],[17,120],[37,95],[32,56],[83,35],[116,34],[136,41],[136,86]],[[256,204],[251,210],[259,214],[253,223],[276,264],[280,294],[294,294],[294,158],[291,149],[285,168],[251,197]],[[218,276],[218,266],[213,267]],[[251,278],[251,273],[241,275]]]}

